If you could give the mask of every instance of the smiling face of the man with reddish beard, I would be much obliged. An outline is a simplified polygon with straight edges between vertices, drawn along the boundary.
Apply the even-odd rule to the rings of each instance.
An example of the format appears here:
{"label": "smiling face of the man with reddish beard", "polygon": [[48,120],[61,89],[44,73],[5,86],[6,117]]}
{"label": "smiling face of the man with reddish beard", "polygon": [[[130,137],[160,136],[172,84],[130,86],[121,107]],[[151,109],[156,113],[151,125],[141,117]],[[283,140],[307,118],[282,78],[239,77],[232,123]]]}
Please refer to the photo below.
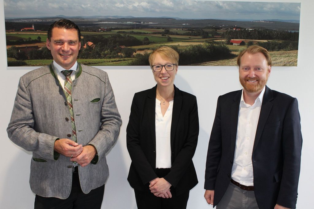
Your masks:
{"label": "smiling face of the man with reddish beard", "polygon": [[239,67],[240,83],[249,93],[260,92],[267,83],[270,71],[271,66],[267,64],[267,60],[261,52],[256,54],[246,52],[241,57]]}

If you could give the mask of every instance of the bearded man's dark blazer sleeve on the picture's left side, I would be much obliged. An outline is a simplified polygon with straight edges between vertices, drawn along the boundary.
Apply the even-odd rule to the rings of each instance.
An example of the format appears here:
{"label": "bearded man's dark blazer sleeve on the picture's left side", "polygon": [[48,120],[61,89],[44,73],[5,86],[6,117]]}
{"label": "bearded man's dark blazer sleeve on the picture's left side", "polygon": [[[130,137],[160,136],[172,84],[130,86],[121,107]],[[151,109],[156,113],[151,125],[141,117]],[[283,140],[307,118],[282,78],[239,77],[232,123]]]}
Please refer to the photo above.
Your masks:
{"label": "bearded man's dark blazer sleeve on the picture's left side", "polygon": [[210,133],[206,169],[205,169],[205,183],[204,189],[214,190],[218,165],[221,158],[221,118],[220,118],[220,97],[218,97],[216,115],[212,131]]}

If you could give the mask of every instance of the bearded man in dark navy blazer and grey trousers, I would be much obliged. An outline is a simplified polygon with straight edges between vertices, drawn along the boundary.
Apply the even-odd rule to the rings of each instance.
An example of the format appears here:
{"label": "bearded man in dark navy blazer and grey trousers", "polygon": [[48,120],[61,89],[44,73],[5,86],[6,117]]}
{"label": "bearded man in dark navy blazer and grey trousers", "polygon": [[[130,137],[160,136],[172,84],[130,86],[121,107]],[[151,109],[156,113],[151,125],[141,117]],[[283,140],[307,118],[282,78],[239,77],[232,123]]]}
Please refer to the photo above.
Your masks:
{"label": "bearded man in dark navy blazer and grey trousers", "polygon": [[266,86],[271,58],[250,46],[238,58],[243,90],[219,96],[205,199],[218,209],[295,208],[302,134],[296,98]]}

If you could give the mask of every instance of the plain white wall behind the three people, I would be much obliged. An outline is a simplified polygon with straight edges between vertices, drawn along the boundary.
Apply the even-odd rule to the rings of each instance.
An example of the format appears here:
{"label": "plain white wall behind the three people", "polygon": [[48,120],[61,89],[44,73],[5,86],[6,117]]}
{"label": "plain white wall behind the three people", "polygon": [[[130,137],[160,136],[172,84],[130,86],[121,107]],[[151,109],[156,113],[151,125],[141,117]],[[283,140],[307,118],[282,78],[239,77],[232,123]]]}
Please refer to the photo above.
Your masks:
{"label": "plain white wall behind the three people", "polygon": [[[243,1],[243,0],[242,0]],[[278,1],[276,2],[293,2]],[[301,25],[299,58],[297,67],[273,67],[268,86],[271,89],[287,93],[299,101],[303,133],[303,150],[299,196],[297,208],[312,207],[313,188],[313,10],[311,0],[301,2]],[[4,32],[3,0],[0,1],[0,208],[32,208],[35,195],[29,186],[31,153],[13,144],[7,136],[6,128],[10,119],[19,77],[29,71],[7,70]],[[32,68],[32,69],[35,69]],[[155,85],[149,67],[101,67],[108,72],[116,96],[116,103],[122,116],[123,124],[116,145],[107,154],[110,176],[105,187],[102,208],[135,209],[133,189],[127,182],[128,168],[131,163],[126,149],[126,126],[130,113],[133,94]],[[229,91],[241,89],[238,71],[235,66],[180,66],[175,81],[181,90],[190,92],[198,98],[200,133],[194,163],[199,183],[190,192],[188,207],[211,208],[203,198],[204,169],[209,134],[213,124],[217,97]]]}

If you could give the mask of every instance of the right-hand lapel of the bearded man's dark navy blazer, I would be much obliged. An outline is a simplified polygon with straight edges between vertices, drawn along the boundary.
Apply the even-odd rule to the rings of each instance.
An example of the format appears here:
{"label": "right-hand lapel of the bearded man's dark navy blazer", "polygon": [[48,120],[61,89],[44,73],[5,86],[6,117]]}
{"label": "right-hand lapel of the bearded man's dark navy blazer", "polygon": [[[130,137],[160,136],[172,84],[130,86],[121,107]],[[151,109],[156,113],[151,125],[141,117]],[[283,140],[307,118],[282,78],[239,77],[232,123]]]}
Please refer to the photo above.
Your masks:
{"label": "right-hand lapel of the bearded man's dark navy blazer", "polygon": [[259,114],[259,119],[257,123],[257,129],[256,129],[255,140],[254,140],[254,145],[253,145],[253,152],[256,149],[259,139],[261,138],[265,123],[273,107],[273,103],[271,102],[272,100],[273,100],[273,92],[271,89],[269,89],[266,86],[264,97],[263,97],[263,103],[261,107],[261,112]]}

